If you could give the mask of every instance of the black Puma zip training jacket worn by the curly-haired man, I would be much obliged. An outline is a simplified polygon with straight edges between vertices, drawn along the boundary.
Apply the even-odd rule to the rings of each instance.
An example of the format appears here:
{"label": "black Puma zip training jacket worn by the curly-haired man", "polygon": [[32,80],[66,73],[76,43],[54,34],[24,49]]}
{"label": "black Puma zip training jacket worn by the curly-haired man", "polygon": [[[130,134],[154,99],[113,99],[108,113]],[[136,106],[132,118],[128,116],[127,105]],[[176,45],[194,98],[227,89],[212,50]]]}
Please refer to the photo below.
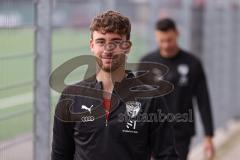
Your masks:
{"label": "black Puma zip training jacket worn by the curly-haired man", "polygon": [[[115,83],[107,120],[102,83],[92,77],[67,87],[57,104],[52,160],[176,160],[174,134],[167,121],[136,119],[168,113],[162,98],[135,97],[132,74]],[[150,114],[150,115],[151,115]]]}

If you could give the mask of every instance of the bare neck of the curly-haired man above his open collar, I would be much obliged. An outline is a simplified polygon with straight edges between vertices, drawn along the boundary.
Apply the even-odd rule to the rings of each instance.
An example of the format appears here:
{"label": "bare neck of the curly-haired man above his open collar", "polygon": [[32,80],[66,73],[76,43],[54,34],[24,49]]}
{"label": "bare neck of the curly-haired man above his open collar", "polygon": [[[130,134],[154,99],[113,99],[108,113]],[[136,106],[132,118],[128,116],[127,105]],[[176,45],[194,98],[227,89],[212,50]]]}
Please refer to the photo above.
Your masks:
{"label": "bare neck of the curly-haired man above his open collar", "polygon": [[113,91],[114,83],[120,82],[125,77],[125,69],[118,68],[113,72],[106,72],[104,70],[100,70],[96,78],[98,81],[101,81],[103,84],[103,90],[108,92],[109,94],[103,95],[104,98],[111,98],[111,93]]}

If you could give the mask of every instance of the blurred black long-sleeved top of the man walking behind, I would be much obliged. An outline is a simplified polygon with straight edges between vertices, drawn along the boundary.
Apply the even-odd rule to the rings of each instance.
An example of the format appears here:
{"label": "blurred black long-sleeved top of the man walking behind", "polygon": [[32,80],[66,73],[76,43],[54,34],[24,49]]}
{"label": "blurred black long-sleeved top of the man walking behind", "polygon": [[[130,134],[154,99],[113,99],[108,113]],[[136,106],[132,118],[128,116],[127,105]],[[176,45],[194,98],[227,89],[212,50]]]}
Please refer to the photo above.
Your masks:
{"label": "blurred black long-sleeved top of the man walking behind", "polygon": [[180,50],[172,58],[164,58],[160,55],[159,49],[147,54],[141,59],[141,62],[160,63],[169,68],[169,72],[164,77],[161,77],[160,74],[159,78],[174,85],[173,92],[164,96],[164,98],[170,111],[177,117],[174,123],[177,139],[191,138],[195,134],[194,99],[198,104],[205,134],[213,136],[211,106],[201,62],[195,56],[183,50]]}

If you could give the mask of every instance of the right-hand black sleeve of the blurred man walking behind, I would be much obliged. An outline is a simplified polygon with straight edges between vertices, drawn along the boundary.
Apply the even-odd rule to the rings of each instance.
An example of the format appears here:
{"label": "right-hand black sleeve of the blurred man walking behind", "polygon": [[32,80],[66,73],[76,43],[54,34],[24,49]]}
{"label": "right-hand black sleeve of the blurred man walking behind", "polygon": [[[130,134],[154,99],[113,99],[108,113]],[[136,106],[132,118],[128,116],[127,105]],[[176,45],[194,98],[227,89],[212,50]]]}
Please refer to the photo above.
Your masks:
{"label": "right-hand black sleeve of the blurred man walking behind", "polygon": [[205,135],[213,136],[213,118],[206,82],[205,73],[200,62],[196,66],[196,84],[194,88],[194,95],[198,103],[198,108],[205,130]]}

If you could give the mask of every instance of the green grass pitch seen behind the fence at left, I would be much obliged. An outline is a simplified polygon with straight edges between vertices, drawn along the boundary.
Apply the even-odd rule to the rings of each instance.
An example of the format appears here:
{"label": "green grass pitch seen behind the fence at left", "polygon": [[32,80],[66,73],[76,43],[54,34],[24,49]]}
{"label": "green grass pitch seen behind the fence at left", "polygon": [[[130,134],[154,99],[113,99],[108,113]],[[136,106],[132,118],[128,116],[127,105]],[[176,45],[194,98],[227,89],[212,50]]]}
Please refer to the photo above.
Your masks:
{"label": "green grass pitch seen behind the fence at left", "polygon": [[[54,30],[52,34],[52,70],[63,62],[78,55],[91,54],[88,30]],[[137,62],[146,52],[145,39],[132,34],[133,48],[129,62]],[[0,88],[34,80],[34,31],[32,29],[0,30]],[[22,56],[21,55],[25,55]],[[13,57],[13,58],[12,58]],[[67,78],[67,82],[78,80],[82,70],[77,69]],[[33,128],[33,105],[9,106],[1,109],[1,100],[32,92],[33,84],[0,90],[0,141],[31,132]],[[53,108],[57,97],[52,100]],[[14,101],[14,99],[12,99]],[[18,112],[24,112],[16,114]]]}

